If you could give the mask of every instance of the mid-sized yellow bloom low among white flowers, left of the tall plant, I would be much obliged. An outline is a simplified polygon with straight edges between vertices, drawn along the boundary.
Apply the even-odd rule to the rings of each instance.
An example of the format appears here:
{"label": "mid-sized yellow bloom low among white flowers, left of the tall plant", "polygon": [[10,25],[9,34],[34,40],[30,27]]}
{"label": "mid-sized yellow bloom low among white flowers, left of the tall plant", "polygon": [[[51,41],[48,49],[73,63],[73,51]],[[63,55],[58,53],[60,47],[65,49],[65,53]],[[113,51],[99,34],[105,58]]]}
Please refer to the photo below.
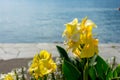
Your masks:
{"label": "mid-sized yellow bloom low among white flowers, left of the tall plant", "polygon": [[42,50],[39,54],[35,55],[29,72],[38,79],[46,74],[52,73],[56,70],[56,64],[51,58],[51,54]]}

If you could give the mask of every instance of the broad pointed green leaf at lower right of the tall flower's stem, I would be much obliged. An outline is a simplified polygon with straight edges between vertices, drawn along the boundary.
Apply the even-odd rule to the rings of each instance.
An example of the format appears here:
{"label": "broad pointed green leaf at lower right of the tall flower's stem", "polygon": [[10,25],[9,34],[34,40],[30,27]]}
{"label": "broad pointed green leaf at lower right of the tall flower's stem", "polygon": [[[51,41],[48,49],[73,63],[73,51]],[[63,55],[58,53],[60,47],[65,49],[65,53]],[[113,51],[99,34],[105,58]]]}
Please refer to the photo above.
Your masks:
{"label": "broad pointed green leaf at lower right of the tall flower's stem", "polygon": [[106,73],[109,69],[109,65],[104,61],[99,55],[96,58],[97,64],[95,65],[97,75],[100,77],[102,80],[106,77]]}

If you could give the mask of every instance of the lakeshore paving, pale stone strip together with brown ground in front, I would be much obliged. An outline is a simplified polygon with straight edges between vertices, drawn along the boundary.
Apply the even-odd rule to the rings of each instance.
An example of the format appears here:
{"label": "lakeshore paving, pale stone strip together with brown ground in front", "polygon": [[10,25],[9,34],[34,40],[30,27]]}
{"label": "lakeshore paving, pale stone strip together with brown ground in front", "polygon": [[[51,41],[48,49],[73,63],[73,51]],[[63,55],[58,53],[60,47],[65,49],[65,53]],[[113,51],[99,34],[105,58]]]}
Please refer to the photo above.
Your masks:
{"label": "lakeshore paving, pale stone strip together with brown ground in front", "polygon": [[[62,43],[0,43],[0,73],[9,72],[13,68],[28,67],[28,62],[40,50],[47,50],[52,57],[59,56],[56,45]],[[99,53],[105,60],[116,57],[120,63],[120,43],[99,44]]]}

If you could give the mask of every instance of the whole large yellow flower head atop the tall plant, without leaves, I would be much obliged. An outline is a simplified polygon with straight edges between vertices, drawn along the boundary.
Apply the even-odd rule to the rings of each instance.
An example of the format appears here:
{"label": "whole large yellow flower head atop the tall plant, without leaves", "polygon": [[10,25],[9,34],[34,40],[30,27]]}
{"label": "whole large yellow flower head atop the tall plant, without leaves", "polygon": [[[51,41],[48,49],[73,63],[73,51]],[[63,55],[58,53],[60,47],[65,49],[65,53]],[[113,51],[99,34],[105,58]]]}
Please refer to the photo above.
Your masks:
{"label": "whole large yellow flower head atop the tall plant, without leaves", "polygon": [[72,22],[66,24],[63,36],[66,37],[68,50],[80,58],[90,58],[98,53],[98,39],[92,34],[92,28],[95,23],[85,17],[81,23],[75,18]]}

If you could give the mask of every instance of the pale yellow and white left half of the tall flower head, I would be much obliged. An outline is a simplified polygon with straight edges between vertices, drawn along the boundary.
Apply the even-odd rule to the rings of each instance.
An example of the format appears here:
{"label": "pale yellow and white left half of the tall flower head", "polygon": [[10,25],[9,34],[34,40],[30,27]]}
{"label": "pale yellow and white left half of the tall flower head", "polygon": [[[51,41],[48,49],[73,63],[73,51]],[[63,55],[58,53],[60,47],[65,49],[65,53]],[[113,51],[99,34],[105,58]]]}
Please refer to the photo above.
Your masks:
{"label": "pale yellow and white left half of the tall flower head", "polygon": [[68,49],[73,49],[79,45],[80,31],[79,31],[78,19],[75,18],[72,22],[66,24],[66,29],[63,32],[63,36],[66,37],[66,44]]}

